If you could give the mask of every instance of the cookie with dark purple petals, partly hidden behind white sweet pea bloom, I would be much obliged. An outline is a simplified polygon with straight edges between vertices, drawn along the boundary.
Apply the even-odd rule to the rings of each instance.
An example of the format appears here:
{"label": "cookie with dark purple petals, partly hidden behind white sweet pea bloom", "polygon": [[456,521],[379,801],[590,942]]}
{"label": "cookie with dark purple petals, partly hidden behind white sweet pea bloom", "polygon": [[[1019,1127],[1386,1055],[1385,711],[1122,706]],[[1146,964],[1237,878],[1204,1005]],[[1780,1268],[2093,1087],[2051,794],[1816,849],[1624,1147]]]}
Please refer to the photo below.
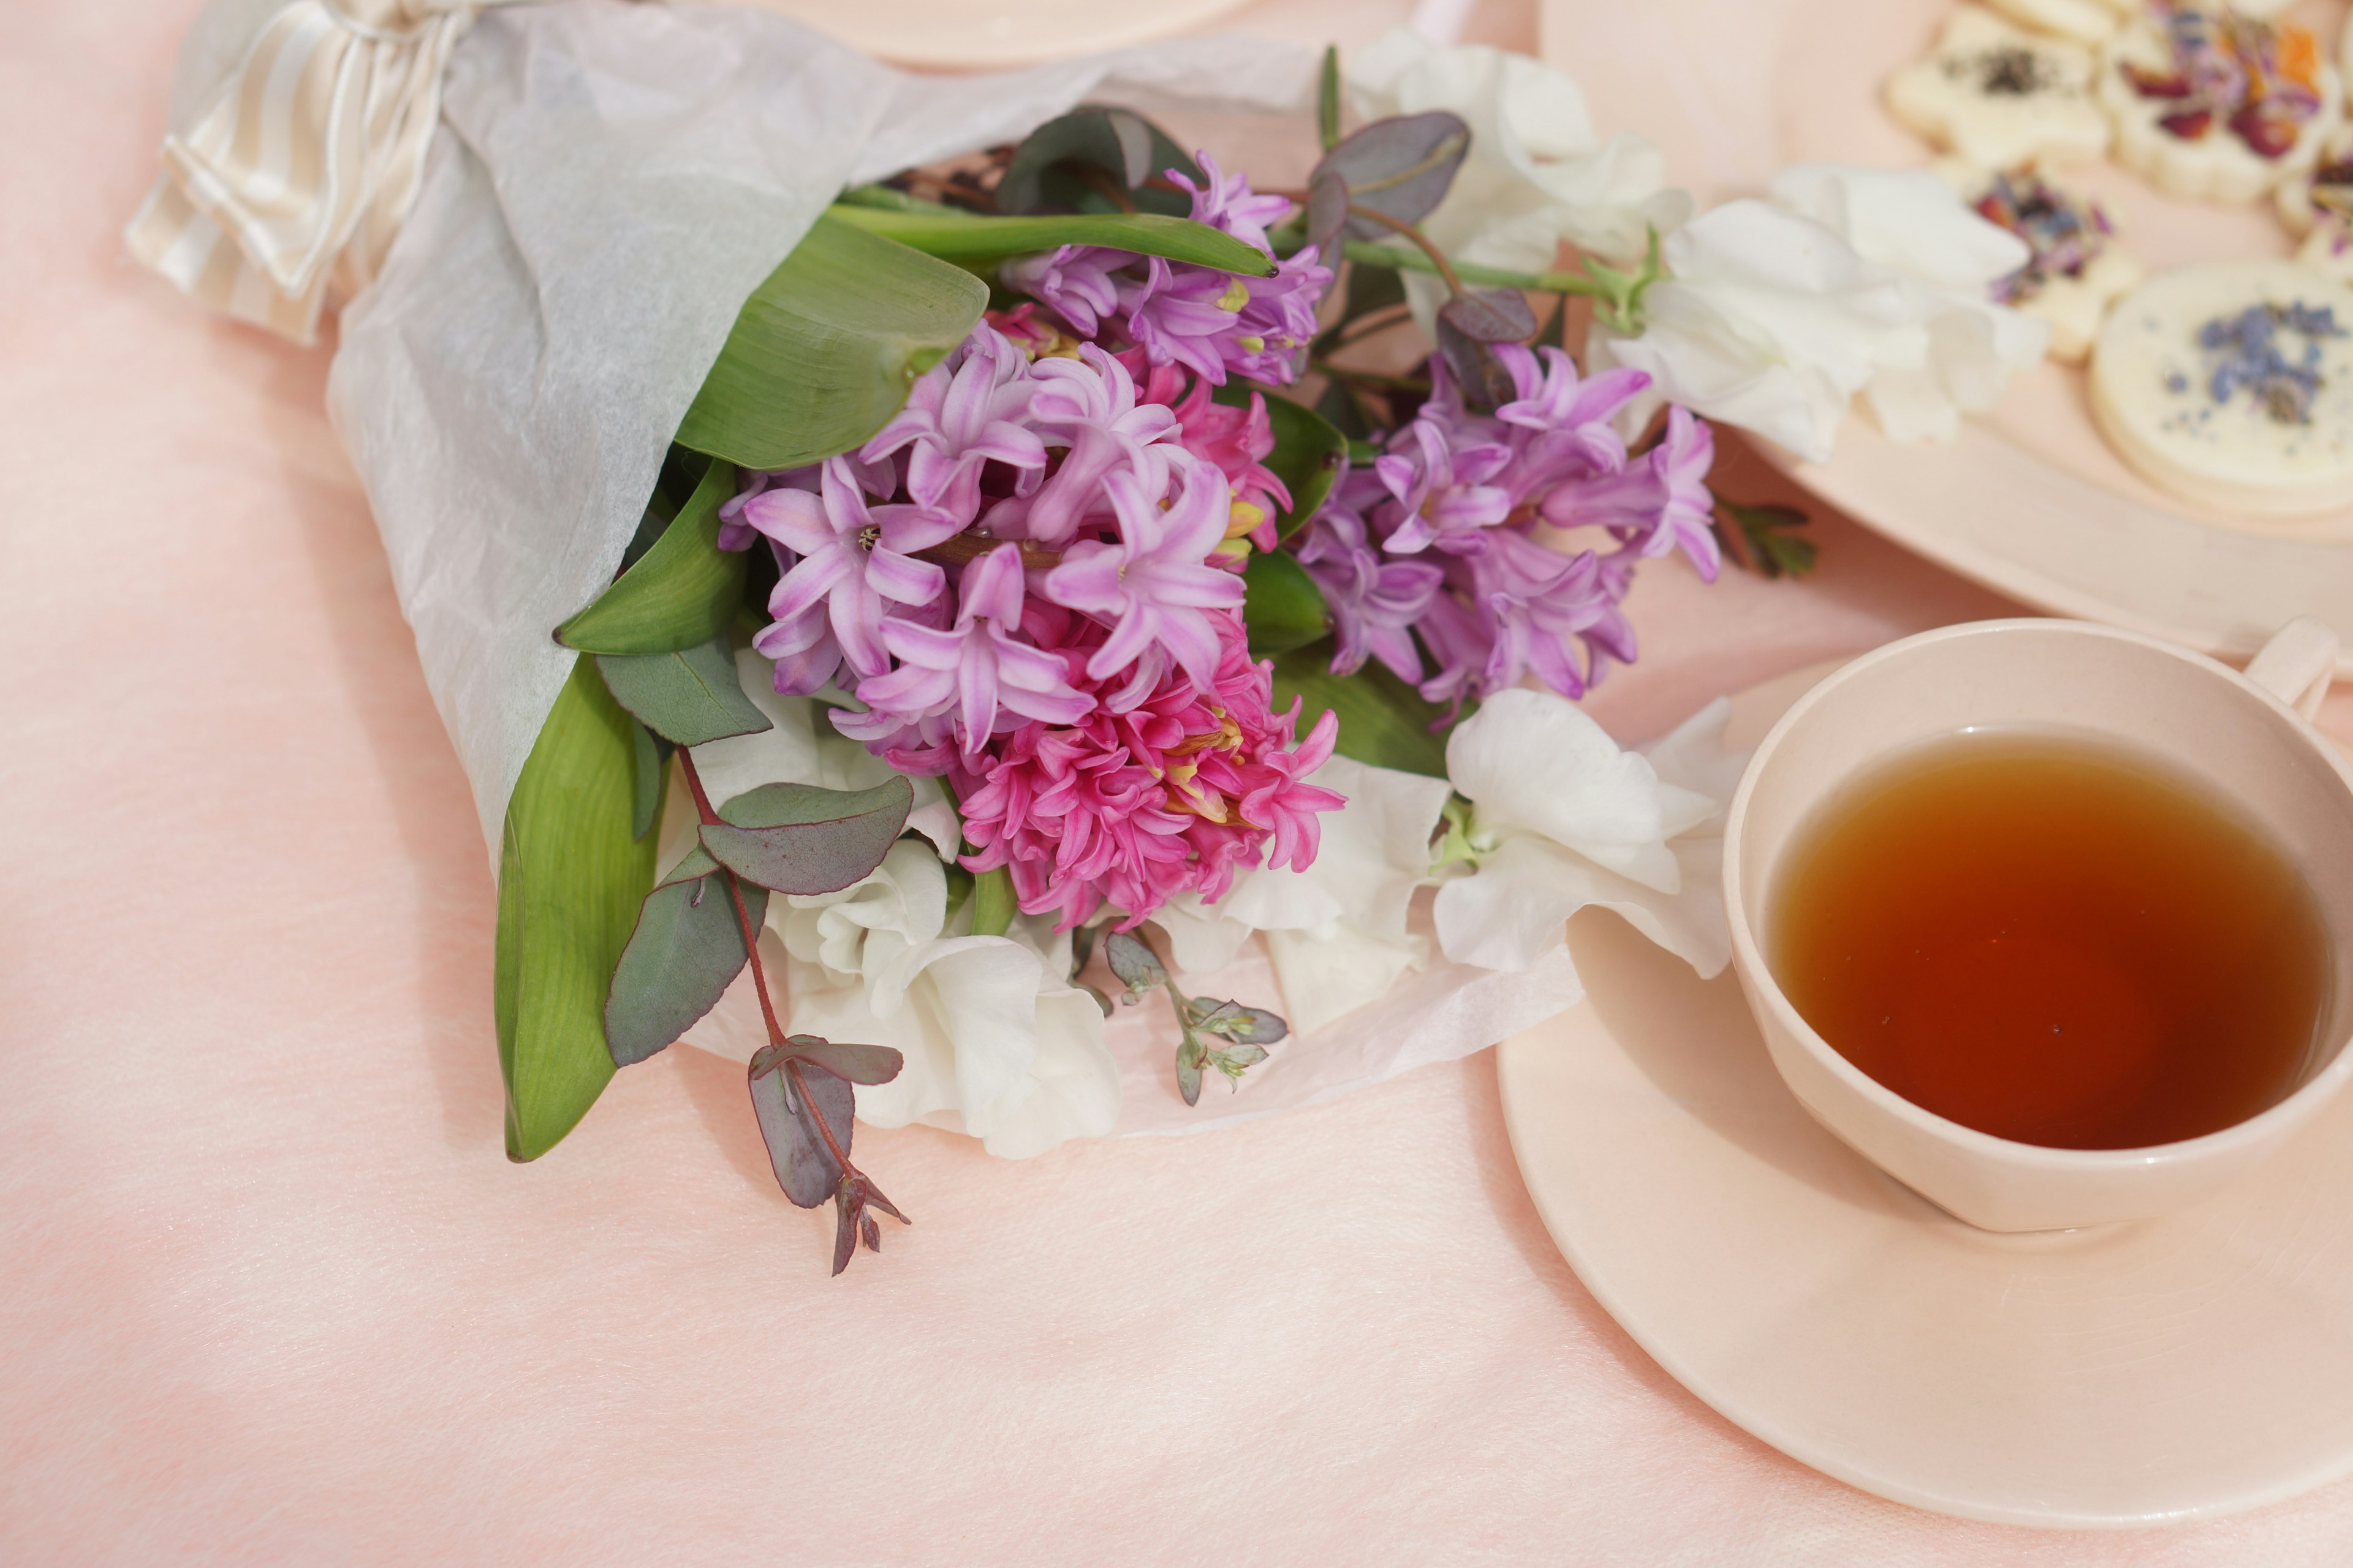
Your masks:
{"label": "cookie with dark purple petals, partly hidden behind white sweet pea bloom", "polygon": [[2141,282],[2141,263],[2115,244],[2099,202],[2073,195],[2033,167],[1984,172],[1948,160],[1937,169],[1977,216],[2026,240],[2031,261],[1993,284],[1993,299],[2052,324],[2049,357],[2082,364],[2108,301]]}

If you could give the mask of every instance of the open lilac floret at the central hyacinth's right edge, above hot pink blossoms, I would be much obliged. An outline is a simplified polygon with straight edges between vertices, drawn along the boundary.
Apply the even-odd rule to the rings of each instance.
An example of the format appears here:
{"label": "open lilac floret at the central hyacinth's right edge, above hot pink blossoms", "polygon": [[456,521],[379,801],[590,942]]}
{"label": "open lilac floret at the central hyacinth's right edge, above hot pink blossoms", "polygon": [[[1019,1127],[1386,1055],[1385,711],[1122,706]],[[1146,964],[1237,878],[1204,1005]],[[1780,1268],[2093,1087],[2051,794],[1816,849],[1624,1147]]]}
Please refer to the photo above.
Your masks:
{"label": "open lilac floret at the central hyacinth's right edge, above hot pink blossoms", "polygon": [[1233,491],[1212,463],[1176,465],[1179,491],[1160,498],[1134,475],[1104,477],[1120,543],[1080,541],[1045,574],[1045,597],[1111,625],[1111,639],[1087,661],[1092,679],[1111,679],[1153,649],[1165,651],[1198,691],[1217,682],[1217,628],[1202,611],[1238,609],[1242,578],[1205,564],[1226,538]]}

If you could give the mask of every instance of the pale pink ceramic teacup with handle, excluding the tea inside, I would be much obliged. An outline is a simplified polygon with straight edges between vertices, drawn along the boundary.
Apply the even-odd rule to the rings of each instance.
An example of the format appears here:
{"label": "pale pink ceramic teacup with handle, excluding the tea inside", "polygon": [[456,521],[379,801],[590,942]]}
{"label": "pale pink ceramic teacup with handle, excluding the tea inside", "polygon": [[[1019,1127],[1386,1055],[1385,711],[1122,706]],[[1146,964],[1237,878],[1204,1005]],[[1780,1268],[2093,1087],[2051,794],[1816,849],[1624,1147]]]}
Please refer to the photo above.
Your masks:
{"label": "pale pink ceramic teacup with handle, excluding the tea inside", "polygon": [[2233,802],[2304,872],[2353,940],[2353,766],[2304,717],[2337,635],[2297,621],[2240,675],[2169,642],[2080,621],[1977,621],[1892,642],[1826,677],[1765,736],[1725,825],[1732,964],[1774,1067],[1831,1133],[1981,1229],[2073,1229],[2172,1213],[2278,1150],[2353,1079],[2353,961],[2339,959],[2299,1086],[2205,1138],[2141,1150],[2012,1143],[1913,1105],[1833,1051],[1791,1006],[1774,950],[1784,851],[1842,785],[1925,741],[2033,726],[2122,743]]}

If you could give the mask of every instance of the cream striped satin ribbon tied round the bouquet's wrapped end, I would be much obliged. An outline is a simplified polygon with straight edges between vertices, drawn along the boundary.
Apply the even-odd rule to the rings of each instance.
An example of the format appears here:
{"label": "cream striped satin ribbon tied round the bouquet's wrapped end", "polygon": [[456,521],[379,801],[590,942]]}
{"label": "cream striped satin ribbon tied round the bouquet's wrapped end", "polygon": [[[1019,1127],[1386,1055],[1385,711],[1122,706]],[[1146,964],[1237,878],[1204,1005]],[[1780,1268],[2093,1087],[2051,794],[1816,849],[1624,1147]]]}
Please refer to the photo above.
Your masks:
{"label": "cream striped satin ribbon tied round the bouquet's wrapped end", "polygon": [[125,230],[184,292],[299,343],[384,261],[416,200],[440,73],[485,5],[294,0],[186,134]]}

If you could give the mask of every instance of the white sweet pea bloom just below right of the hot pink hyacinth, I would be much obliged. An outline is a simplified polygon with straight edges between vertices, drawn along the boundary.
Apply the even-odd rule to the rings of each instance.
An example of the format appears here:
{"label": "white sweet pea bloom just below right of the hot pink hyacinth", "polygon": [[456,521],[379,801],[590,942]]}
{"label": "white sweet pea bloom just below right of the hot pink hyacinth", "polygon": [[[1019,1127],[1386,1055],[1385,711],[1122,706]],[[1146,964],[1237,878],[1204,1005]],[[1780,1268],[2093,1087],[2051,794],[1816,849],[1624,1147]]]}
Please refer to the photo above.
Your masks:
{"label": "white sweet pea bloom just below right of the hot pink hyacinth", "polygon": [[1329,757],[1313,783],[1348,799],[1325,813],[1313,865],[1245,870],[1214,905],[1188,893],[1153,914],[1169,959],[1195,976],[1224,969],[1264,933],[1294,1034],[1313,1034],[1428,961],[1405,914],[1431,875],[1431,835],[1449,795],[1445,778],[1351,757]]}

